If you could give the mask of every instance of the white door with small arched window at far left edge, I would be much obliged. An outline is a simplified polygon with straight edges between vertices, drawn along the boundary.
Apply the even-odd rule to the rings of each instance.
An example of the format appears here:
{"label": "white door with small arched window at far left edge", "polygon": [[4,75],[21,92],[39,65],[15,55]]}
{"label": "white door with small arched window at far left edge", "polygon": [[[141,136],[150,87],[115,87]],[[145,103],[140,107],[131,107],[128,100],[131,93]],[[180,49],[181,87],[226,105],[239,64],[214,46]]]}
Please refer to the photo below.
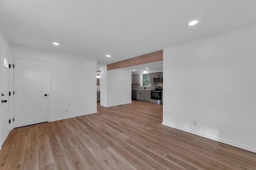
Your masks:
{"label": "white door with small arched window at far left edge", "polygon": [[[3,63],[1,66],[2,69],[2,111],[1,111],[1,145],[4,143],[8,133],[9,133],[9,115],[10,115],[10,97],[9,97],[9,89],[10,89],[10,73],[9,73],[9,56],[2,49],[2,57],[1,60]],[[1,146],[0,145],[0,146]]]}

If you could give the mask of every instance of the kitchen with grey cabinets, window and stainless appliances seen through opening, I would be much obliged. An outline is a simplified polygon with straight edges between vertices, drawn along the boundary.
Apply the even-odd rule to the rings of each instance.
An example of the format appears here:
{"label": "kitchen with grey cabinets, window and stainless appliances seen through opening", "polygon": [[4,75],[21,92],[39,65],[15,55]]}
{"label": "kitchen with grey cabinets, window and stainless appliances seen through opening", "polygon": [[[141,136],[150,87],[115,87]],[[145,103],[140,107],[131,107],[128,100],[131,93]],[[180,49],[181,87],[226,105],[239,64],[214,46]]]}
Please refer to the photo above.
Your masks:
{"label": "kitchen with grey cabinets, window and stainless appliances seen through opening", "polygon": [[132,72],[132,100],[163,104],[163,72]]}

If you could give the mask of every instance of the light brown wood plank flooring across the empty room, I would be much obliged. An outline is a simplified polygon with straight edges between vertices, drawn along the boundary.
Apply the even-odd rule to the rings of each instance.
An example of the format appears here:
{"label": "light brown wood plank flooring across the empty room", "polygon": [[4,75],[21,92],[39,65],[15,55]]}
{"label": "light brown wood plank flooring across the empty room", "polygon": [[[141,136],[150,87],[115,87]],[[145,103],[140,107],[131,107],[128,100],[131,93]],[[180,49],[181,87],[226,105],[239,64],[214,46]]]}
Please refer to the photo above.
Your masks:
{"label": "light brown wood plank flooring across the empty room", "polygon": [[256,170],[256,153],[161,125],[162,105],[132,101],[20,127],[1,170]]}

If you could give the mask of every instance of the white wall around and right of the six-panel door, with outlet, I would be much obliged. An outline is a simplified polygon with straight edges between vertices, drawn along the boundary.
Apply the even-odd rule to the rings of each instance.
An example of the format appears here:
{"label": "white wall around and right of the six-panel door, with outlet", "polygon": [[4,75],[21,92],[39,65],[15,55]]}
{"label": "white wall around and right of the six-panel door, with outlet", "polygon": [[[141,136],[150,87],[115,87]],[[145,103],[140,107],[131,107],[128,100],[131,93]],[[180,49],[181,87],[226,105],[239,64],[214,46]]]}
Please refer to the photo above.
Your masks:
{"label": "white wall around and right of the six-panel door, with outlet", "polygon": [[97,112],[96,60],[21,46],[12,46],[11,52],[12,57],[49,62],[50,121]]}

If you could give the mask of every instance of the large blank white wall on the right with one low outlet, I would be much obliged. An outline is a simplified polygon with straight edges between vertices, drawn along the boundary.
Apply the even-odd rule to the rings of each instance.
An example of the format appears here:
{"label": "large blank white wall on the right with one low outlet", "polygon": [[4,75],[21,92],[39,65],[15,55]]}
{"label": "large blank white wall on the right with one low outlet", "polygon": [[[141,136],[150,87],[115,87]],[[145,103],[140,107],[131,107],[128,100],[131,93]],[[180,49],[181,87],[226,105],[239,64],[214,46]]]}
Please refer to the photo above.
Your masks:
{"label": "large blank white wall on the right with one low outlet", "polygon": [[163,125],[256,152],[255,45],[256,25],[164,49]]}

